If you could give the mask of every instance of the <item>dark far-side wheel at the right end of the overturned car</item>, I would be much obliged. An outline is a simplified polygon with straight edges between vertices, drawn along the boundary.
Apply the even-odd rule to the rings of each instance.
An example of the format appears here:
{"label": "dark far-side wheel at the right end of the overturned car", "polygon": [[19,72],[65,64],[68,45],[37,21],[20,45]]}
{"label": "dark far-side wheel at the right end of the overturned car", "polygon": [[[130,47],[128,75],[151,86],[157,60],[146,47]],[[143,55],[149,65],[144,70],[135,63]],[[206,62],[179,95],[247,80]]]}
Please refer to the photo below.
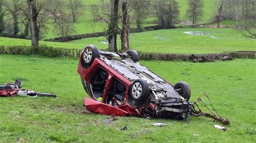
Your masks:
{"label": "dark far-side wheel at the right end of the overturned car", "polygon": [[190,85],[188,85],[186,82],[176,83],[174,85],[174,90],[176,90],[180,96],[187,99],[187,101],[190,99],[190,95],[191,95]]}

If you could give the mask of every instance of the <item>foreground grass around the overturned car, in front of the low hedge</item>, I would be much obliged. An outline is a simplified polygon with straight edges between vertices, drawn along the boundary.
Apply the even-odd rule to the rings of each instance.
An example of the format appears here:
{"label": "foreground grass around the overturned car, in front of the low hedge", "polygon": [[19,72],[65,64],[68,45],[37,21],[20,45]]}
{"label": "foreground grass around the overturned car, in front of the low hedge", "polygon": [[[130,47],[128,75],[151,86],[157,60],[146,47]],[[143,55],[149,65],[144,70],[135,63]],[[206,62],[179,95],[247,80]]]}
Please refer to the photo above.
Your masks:
{"label": "foreground grass around the overturned car, in front of the low hedge", "polygon": [[[11,64],[10,64],[11,63]],[[53,92],[57,98],[0,98],[0,140],[16,142],[255,142],[255,60],[191,63],[141,61],[171,83],[186,81],[194,101],[207,91],[215,106],[231,121],[227,131],[213,127],[212,119],[191,117],[190,123],[166,119],[118,117],[81,113],[85,91],[76,60],[39,56],[0,55],[0,83],[23,78],[22,87]],[[203,99],[205,99],[203,97]],[[165,127],[149,124],[164,122]],[[120,129],[127,126],[127,130]],[[198,134],[194,136],[193,134]]]}

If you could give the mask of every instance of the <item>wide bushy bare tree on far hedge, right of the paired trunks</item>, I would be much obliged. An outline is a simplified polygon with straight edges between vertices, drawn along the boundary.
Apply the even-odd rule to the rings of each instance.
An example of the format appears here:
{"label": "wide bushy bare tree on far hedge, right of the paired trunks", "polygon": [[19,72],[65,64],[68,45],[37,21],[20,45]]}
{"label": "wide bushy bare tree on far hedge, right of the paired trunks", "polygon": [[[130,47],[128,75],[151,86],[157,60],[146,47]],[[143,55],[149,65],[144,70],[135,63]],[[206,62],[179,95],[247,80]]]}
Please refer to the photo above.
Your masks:
{"label": "wide bushy bare tree on far hedge, right of the paired trunks", "polygon": [[175,0],[154,0],[154,4],[161,28],[174,28],[179,21],[178,3]]}

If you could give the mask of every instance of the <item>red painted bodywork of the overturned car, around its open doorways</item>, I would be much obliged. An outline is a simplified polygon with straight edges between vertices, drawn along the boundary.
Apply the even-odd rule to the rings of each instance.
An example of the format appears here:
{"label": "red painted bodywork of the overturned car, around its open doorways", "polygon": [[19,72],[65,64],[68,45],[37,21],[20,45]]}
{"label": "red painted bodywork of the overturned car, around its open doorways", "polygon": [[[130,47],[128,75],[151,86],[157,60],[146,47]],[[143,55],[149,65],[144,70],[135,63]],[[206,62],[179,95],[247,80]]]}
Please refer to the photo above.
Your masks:
{"label": "red painted bodywork of the overturned car, around its open doorways", "polygon": [[[82,53],[80,54],[80,58],[82,57]],[[91,96],[91,99],[84,98],[84,105],[86,106],[87,110],[90,112],[95,113],[101,113],[103,115],[112,115],[112,116],[126,116],[126,115],[133,115],[133,116],[139,116],[139,113],[134,109],[130,108],[129,105],[127,105],[127,96],[128,96],[128,90],[131,85],[131,82],[127,80],[125,77],[120,75],[116,70],[112,69],[111,67],[107,66],[102,60],[95,59],[92,63],[92,65],[85,69],[82,66],[82,62],[79,61],[77,72],[82,78],[82,81],[86,81],[86,83],[90,83],[91,75],[95,74],[96,69],[102,68],[108,73],[108,80],[106,82],[106,88],[103,92],[103,101],[98,101],[94,96]],[[110,83],[113,78],[118,78],[120,81],[123,81],[126,87],[126,95],[125,95],[125,101],[118,106],[118,108],[113,107],[111,105],[106,104],[106,96],[109,92]],[[87,87],[90,87],[90,85],[86,85]],[[86,90],[86,88],[85,88]],[[86,90],[87,94],[93,95],[91,90]],[[154,108],[154,107],[152,107]]]}

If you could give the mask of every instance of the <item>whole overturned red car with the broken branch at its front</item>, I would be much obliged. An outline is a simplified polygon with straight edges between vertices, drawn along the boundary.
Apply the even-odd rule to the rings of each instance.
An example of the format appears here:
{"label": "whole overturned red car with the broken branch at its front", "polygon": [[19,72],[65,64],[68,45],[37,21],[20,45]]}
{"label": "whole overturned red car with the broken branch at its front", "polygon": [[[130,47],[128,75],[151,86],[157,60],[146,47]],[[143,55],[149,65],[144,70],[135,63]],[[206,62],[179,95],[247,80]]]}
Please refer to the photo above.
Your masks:
{"label": "whole overturned red car with the broken branch at its front", "polygon": [[[114,53],[87,45],[80,52],[77,69],[85,91],[91,96],[91,99],[84,98],[86,109],[112,116],[186,120],[191,115],[206,116],[230,124],[213,112],[213,115],[202,112],[197,103],[188,102],[191,90],[187,83],[173,85],[138,61],[139,55],[134,50]],[[204,103],[200,98],[198,101]]]}

